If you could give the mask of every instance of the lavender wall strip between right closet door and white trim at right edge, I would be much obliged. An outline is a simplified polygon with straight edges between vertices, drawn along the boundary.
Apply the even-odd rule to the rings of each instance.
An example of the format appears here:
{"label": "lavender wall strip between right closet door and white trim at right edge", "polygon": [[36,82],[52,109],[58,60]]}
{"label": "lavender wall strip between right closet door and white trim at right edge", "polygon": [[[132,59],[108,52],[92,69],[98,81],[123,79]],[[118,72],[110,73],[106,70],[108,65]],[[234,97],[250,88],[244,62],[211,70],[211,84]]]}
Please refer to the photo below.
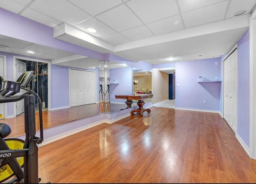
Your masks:
{"label": "lavender wall strip between right closet door and white trim at right edge", "polygon": [[250,44],[249,30],[238,41],[237,134],[250,145]]}

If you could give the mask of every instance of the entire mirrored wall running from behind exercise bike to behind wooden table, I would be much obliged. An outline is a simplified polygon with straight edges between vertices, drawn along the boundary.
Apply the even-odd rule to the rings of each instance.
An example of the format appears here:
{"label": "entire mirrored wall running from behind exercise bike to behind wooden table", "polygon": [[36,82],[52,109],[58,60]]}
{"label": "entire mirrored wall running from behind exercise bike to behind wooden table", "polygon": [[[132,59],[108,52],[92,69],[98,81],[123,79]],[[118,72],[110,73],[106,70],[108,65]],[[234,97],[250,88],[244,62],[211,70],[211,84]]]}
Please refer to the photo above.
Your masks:
{"label": "entire mirrored wall running from behind exercise bike to behind wooden table", "polygon": [[[6,45],[6,48],[0,48],[0,57],[6,57],[7,60],[7,74],[5,73],[7,80],[18,78],[17,70],[14,69],[16,60],[26,63],[26,70],[33,70],[37,75],[35,91],[44,102],[44,129],[100,113],[114,113],[126,109],[126,100],[116,99],[116,94],[134,94],[138,90],[148,93],[151,91],[150,72],[143,71],[144,77],[142,77],[140,74],[142,70],[124,63],[100,61],[4,35],[0,35],[0,45]],[[34,53],[27,52],[30,50]],[[70,78],[69,69],[71,68],[94,73],[94,82],[91,82],[95,89],[94,102],[77,106],[70,105],[72,84],[77,83],[72,82]],[[134,80],[137,82],[134,83]],[[78,88],[77,91],[77,94],[80,94]],[[132,104],[132,106],[136,105],[136,102]],[[6,106],[0,104],[0,114],[8,112],[0,121],[12,125],[11,137],[24,135],[22,124],[24,114],[15,114],[15,106],[14,102]],[[38,125],[36,127],[39,129]]]}

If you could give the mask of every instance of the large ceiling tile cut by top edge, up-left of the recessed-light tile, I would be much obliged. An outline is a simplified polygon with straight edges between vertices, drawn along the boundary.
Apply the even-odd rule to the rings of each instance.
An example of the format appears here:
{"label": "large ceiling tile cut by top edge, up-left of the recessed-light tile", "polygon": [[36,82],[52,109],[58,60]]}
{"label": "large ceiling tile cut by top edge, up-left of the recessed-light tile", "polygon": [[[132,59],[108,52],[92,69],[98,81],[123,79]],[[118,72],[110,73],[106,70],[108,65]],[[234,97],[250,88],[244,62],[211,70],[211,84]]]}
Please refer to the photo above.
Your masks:
{"label": "large ceiling tile cut by top edge, up-left of the recessed-light tile", "polygon": [[70,25],[76,25],[91,17],[66,0],[36,0],[30,8]]}

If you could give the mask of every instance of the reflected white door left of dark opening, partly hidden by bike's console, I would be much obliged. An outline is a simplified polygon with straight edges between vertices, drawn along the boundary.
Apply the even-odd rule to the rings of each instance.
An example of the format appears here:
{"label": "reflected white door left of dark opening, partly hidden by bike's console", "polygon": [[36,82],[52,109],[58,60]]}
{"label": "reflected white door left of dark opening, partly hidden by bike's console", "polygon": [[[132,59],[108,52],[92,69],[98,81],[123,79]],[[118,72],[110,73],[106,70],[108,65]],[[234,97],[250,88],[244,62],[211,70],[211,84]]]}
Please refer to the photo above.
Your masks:
{"label": "reflected white door left of dark opening, partly hidden by bike's console", "polygon": [[[27,71],[26,63],[23,61],[20,61],[19,59],[16,59],[16,81],[21,74]],[[20,89],[20,92],[17,93],[17,95],[20,95],[22,93],[26,92],[25,90]],[[24,100],[20,100],[16,102],[16,115],[22,114],[24,112]]]}

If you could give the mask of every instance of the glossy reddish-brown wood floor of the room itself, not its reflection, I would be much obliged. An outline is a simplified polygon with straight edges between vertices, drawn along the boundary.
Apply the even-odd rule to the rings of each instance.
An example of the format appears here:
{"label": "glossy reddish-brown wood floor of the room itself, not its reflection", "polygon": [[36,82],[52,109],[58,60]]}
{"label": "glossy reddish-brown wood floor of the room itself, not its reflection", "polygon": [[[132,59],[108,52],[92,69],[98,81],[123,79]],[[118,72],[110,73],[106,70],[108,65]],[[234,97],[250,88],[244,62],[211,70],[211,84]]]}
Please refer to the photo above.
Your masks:
{"label": "glossy reddish-brown wood floor of the room itself, not its reflection", "polygon": [[219,114],[151,107],[39,147],[41,183],[255,183]]}

